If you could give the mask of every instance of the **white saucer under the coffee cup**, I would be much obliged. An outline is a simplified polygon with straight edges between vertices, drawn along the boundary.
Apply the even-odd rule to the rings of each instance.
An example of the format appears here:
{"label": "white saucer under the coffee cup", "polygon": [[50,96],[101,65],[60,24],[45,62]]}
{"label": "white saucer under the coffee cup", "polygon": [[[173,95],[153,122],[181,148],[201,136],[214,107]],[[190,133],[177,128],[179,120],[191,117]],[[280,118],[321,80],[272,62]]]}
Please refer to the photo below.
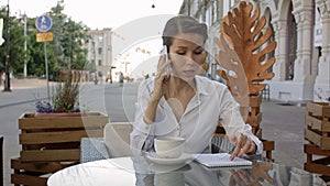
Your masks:
{"label": "white saucer under the coffee cup", "polygon": [[185,164],[189,160],[193,160],[191,154],[185,154],[185,153],[177,158],[158,157],[156,154],[147,154],[146,157],[153,163],[161,164],[161,165],[180,165],[180,164]]}

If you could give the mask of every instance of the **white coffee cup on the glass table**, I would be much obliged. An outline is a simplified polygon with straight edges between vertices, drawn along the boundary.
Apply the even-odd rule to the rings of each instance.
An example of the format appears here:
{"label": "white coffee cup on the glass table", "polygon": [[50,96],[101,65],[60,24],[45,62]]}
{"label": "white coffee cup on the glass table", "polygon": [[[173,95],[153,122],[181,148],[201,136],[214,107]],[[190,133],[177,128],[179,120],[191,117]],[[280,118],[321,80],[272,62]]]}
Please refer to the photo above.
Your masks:
{"label": "white coffee cup on the glass table", "polygon": [[180,136],[161,136],[154,140],[154,145],[160,157],[177,158],[184,153],[185,139]]}

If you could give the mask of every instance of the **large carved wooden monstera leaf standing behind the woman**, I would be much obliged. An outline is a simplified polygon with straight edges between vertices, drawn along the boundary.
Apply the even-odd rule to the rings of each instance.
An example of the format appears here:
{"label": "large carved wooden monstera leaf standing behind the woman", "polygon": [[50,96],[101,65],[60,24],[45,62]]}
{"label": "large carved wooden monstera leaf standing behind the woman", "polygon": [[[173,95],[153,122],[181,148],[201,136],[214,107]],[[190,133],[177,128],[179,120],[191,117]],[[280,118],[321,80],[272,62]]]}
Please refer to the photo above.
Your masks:
{"label": "large carved wooden monstera leaf standing behind the woman", "polygon": [[[218,74],[223,78],[227,76],[226,78],[230,81],[229,86],[239,87],[242,84],[248,84],[249,95],[258,94],[266,86],[260,83],[274,77],[274,73],[268,73],[267,69],[274,65],[275,57],[271,57],[265,63],[262,62],[266,54],[276,48],[276,42],[270,42],[273,34],[271,26],[264,33],[262,32],[266,19],[264,15],[258,19],[260,8],[257,7],[253,14],[252,10],[251,2],[241,1],[239,8],[229,12],[221,22],[220,34],[223,36],[220,36],[220,40],[216,39],[216,43],[220,47],[219,55],[216,55],[218,56],[218,58],[216,57],[217,62],[227,70],[227,73]],[[224,43],[229,45],[228,48],[223,47]],[[235,52],[235,55],[229,53],[229,48]],[[223,50],[227,50],[227,53],[223,53]],[[239,69],[232,62],[241,63],[242,69]],[[230,78],[228,72],[234,72],[238,77]],[[240,76],[245,76],[245,78]],[[243,79],[248,83],[239,83]],[[232,87],[230,89],[233,90]],[[242,92],[233,94],[242,95]]]}

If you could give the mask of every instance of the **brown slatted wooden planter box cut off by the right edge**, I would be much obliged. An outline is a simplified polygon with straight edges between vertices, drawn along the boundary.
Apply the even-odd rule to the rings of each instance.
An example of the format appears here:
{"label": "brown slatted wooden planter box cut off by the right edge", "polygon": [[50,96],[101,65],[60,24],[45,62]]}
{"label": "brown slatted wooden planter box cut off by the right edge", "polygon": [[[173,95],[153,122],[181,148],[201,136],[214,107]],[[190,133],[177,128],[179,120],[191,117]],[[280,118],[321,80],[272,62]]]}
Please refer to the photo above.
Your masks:
{"label": "brown slatted wooden planter box cut off by the right edge", "polygon": [[308,102],[305,139],[321,150],[330,150],[330,105]]}

